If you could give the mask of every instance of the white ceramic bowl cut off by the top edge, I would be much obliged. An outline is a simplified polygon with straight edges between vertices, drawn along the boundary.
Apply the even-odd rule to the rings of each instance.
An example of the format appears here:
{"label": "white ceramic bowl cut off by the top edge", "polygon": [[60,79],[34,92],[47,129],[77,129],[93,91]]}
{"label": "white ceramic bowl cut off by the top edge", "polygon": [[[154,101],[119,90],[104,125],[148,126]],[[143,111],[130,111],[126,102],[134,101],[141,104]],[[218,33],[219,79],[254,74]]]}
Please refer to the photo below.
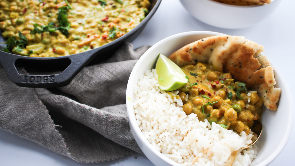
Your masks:
{"label": "white ceramic bowl cut off by the top edge", "polygon": [[276,10],[281,0],[270,4],[237,6],[213,0],[180,0],[196,19],[214,27],[240,29],[262,22]]}

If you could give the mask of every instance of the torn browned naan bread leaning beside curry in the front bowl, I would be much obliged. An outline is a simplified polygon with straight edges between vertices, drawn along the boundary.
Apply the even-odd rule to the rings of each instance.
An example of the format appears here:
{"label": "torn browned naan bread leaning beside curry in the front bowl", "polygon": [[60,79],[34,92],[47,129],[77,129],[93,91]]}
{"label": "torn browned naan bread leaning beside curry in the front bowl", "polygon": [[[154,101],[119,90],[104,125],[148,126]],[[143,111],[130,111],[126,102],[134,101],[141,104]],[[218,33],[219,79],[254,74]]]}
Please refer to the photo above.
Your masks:
{"label": "torn browned naan bread leaning beside curry in the front bowl", "polygon": [[217,71],[231,73],[235,80],[255,89],[266,108],[276,110],[281,89],[274,87],[274,70],[263,51],[262,45],[245,37],[218,35],[190,43],[169,58],[179,66],[203,62]]}

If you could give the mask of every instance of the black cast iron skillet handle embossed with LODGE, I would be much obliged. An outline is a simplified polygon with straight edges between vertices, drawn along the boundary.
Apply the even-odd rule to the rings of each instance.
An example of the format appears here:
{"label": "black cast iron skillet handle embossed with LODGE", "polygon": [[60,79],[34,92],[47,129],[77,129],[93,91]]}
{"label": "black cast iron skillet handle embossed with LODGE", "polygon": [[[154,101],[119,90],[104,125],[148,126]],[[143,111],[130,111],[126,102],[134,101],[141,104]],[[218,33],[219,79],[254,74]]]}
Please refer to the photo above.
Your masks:
{"label": "black cast iron skillet handle embossed with LODGE", "polygon": [[[9,79],[18,86],[32,87],[32,88],[53,88],[66,86],[73,78],[85,67],[93,58],[93,54],[97,50],[90,50],[79,54],[68,56],[54,57],[54,58],[41,58],[41,57],[24,57],[20,55],[13,55],[7,52],[0,51],[0,62]],[[24,61],[68,61],[69,65],[62,73],[50,75],[24,75],[17,71],[15,62],[17,60]],[[25,65],[25,64],[24,64]],[[54,66],[55,64],[52,64]]]}

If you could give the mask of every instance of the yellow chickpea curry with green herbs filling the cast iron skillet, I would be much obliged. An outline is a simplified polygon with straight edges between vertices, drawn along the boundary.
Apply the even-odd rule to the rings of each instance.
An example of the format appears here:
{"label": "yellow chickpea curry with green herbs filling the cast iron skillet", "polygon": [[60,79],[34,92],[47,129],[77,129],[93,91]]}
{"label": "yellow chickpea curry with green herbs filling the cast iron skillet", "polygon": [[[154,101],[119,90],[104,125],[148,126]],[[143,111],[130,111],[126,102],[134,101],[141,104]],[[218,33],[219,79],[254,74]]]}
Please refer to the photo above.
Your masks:
{"label": "yellow chickpea curry with green herbs filling the cast iron skillet", "polygon": [[55,57],[91,50],[132,30],[149,7],[149,0],[1,0],[0,29],[11,38],[4,51]]}

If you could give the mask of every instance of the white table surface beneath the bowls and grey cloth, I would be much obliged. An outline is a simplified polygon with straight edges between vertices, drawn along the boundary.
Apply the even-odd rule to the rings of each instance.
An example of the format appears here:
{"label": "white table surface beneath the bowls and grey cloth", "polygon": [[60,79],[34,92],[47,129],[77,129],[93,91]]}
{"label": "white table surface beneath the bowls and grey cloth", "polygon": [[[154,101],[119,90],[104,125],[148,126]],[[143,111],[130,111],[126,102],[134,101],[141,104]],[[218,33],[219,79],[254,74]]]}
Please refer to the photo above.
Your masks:
{"label": "white table surface beneath the bowls and grey cloth", "polygon": [[[264,54],[276,65],[285,78],[293,105],[295,100],[295,1],[284,0],[268,19],[245,29],[221,29],[204,24],[183,8],[178,0],[162,0],[153,18],[141,34],[132,42],[134,48],[153,45],[165,37],[187,31],[215,31],[224,34],[245,36],[263,45]],[[294,165],[295,123],[289,141],[270,166]],[[0,165],[153,165],[144,155],[129,155],[102,163],[79,163],[58,155],[40,145],[0,129]]]}

